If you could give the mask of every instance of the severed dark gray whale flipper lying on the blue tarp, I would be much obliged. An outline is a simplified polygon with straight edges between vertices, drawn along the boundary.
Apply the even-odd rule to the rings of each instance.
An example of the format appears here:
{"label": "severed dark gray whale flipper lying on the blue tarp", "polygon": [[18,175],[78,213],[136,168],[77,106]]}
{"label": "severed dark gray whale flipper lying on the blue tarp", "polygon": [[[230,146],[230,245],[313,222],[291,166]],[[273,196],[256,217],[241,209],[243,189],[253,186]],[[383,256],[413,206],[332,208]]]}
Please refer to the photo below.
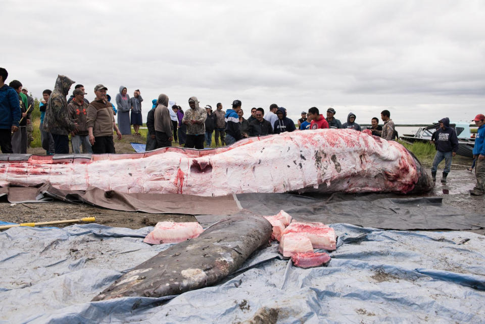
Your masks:
{"label": "severed dark gray whale flipper lying on the blue tarp", "polygon": [[271,224],[262,216],[237,215],[123,274],[92,301],[118,297],[163,297],[214,285],[269,243]]}

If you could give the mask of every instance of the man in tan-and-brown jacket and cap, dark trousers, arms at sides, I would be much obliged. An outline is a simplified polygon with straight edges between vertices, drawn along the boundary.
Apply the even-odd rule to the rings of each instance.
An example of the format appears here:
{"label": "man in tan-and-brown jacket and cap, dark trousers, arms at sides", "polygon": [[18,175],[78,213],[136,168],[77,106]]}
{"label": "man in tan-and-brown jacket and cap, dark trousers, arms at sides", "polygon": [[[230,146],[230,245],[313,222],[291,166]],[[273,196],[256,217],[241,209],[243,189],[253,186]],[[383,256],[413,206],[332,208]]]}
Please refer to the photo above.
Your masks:
{"label": "man in tan-and-brown jacket and cap, dark trousers, arms at sides", "polygon": [[116,126],[112,106],[106,101],[106,90],[108,88],[103,84],[96,85],[94,87],[96,99],[87,107],[86,126],[94,154],[115,153],[113,128],[116,130],[118,140],[121,140],[121,132]]}

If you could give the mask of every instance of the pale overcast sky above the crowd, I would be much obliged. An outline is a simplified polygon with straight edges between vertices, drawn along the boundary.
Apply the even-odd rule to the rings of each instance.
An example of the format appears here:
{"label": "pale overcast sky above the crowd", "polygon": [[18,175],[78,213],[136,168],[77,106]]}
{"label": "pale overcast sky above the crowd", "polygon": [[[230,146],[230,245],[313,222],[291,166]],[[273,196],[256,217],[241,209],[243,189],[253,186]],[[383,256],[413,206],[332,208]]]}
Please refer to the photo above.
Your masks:
{"label": "pale overcast sky above the crowd", "polygon": [[[370,123],[485,113],[485,2],[2,0],[0,66],[34,97],[58,74],[183,109],[276,103]],[[72,87],[74,89],[74,87]]]}

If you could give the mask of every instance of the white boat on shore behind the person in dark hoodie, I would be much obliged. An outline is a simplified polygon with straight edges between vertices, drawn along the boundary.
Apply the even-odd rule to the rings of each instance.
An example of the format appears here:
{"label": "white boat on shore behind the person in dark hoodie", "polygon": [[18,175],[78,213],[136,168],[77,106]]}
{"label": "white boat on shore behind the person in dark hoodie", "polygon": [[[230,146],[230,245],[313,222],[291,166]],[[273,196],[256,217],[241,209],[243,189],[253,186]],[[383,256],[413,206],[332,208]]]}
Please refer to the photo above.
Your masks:
{"label": "white boat on shore behind the person in dark hoodie", "polygon": [[[435,123],[430,126],[419,127],[415,134],[403,134],[399,139],[408,144],[415,142],[429,143],[431,136],[440,127],[440,123]],[[452,122],[450,127],[455,129],[458,137],[458,155],[473,157],[473,147],[475,146],[474,134],[470,131],[470,124],[464,122]]]}

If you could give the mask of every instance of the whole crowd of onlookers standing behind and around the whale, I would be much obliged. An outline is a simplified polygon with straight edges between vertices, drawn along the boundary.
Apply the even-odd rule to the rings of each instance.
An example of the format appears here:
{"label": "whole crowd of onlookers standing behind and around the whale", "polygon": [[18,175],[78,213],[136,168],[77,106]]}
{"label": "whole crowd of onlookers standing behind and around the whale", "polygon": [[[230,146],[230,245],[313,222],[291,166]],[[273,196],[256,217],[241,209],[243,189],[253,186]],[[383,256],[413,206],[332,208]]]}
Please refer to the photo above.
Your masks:
{"label": "whole crowd of onlookers standing behind and around the whale", "polygon": [[[32,122],[30,120],[34,99],[28,96],[22,83],[13,80],[5,84],[8,72],[0,68],[0,147],[2,153],[27,153],[27,147],[33,140]],[[141,103],[143,99],[140,90],[133,92],[133,97],[127,94],[127,88],[120,86],[116,95],[116,107],[107,95],[108,88],[103,84],[94,87],[95,99],[89,102],[84,86],[77,84],[68,100],[66,97],[74,81],[67,76],[59,75],[54,90],[42,91],[40,110],[41,145],[47,155],[68,154],[69,135],[73,153],[115,153],[113,134],[118,139],[122,135],[131,134],[131,125],[135,135],[140,135],[142,125]],[[173,141],[185,148],[204,149],[212,145],[212,135],[215,132],[216,146],[231,145],[242,138],[264,136],[296,130],[336,128],[362,131],[356,123],[356,114],[349,113],[347,121],[336,119],[335,109],[328,108],[326,118],[316,107],[302,111],[301,118],[294,121],[286,115],[286,109],[277,104],[269,106],[265,113],[263,108],[253,107],[251,116],[244,117],[242,103],[234,100],[232,107],[223,110],[217,103],[216,110],[212,106],[199,106],[197,97],[188,99],[189,109],[185,112],[180,106],[171,104],[165,94],[152,100],[152,109],[147,115],[147,145],[146,151],[172,146]],[[114,116],[117,115],[117,123]],[[383,125],[379,125],[377,117],[372,118],[370,129],[372,134],[387,141],[397,137],[397,131],[389,110],[380,114]],[[470,191],[472,195],[483,195],[485,192],[485,116],[479,114],[474,119],[478,128],[475,138],[475,174],[476,187]],[[449,127],[450,120],[440,120],[440,128],[433,134],[432,143],[437,153],[433,160],[431,175],[436,180],[438,164],[445,159],[442,182],[450,172],[451,159],[458,149],[458,139],[454,129]]]}

